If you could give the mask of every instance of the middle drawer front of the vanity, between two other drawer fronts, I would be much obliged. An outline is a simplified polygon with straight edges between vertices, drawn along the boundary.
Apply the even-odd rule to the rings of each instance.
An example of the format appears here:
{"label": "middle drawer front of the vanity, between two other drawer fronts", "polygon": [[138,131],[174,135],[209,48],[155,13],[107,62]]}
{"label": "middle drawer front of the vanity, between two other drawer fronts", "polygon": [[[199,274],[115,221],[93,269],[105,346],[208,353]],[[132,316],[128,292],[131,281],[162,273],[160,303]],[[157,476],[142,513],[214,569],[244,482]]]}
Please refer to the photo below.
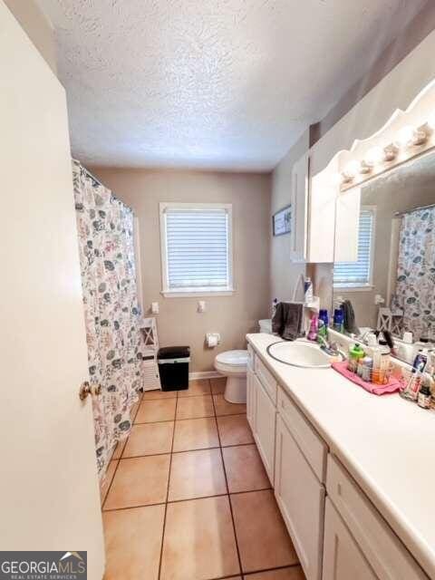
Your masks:
{"label": "middle drawer front of the vanity, between two other drawer fronts", "polygon": [[281,387],[278,389],[277,411],[285,420],[288,429],[304,453],[305,459],[310,464],[315,475],[319,481],[324,482],[326,455],[328,452],[326,443],[317,435],[313,427]]}

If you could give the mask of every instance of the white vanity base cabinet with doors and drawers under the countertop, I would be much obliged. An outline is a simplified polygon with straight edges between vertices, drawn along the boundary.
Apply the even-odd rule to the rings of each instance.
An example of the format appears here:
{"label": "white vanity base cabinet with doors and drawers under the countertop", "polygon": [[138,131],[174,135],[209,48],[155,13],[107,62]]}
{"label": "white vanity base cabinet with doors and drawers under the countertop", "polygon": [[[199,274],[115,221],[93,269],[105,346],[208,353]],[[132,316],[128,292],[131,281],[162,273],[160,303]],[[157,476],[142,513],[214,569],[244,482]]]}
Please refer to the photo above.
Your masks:
{"label": "white vanity base cabinet with doors and drawers under the countertop", "polygon": [[247,420],[306,580],[429,580],[276,382],[274,362],[248,350]]}

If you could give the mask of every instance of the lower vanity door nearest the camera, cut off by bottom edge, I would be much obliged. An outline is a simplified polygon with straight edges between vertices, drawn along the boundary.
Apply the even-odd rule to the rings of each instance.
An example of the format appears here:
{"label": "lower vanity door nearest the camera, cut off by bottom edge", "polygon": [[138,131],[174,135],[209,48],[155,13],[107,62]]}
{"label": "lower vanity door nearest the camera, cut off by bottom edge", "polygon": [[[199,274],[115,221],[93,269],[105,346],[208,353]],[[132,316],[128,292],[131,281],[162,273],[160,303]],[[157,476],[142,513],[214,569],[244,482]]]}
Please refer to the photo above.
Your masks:
{"label": "lower vanity door nearest the camera, cut off by bottom edge", "polygon": [[377,580],[353,536],[329,499],[324,515],[322,580]]}

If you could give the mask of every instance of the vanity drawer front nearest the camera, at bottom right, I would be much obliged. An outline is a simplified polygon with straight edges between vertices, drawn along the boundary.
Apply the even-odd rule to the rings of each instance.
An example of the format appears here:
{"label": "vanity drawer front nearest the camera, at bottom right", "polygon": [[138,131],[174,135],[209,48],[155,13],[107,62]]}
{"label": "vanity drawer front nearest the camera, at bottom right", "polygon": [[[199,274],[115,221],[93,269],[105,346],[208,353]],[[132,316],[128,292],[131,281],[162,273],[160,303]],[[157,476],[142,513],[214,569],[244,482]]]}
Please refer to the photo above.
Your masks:
{"label": "vanity drawer front nearest the camera, at bottom right", "polygon": [[428,580],[343,466],[328,456],[326,489],[380,580]]}

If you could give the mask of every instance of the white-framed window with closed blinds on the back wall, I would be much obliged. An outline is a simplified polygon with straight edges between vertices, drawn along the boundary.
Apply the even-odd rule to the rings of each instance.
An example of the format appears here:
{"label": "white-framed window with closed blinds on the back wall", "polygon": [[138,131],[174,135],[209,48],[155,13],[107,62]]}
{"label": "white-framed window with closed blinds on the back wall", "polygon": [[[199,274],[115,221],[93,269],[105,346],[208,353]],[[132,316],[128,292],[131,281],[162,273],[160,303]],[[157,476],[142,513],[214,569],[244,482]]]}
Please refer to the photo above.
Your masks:
{"label": "white-framed window with closed blinds on the back wall", "polygon": [[163,295],[233,292],[231,208],[160,203]]}

